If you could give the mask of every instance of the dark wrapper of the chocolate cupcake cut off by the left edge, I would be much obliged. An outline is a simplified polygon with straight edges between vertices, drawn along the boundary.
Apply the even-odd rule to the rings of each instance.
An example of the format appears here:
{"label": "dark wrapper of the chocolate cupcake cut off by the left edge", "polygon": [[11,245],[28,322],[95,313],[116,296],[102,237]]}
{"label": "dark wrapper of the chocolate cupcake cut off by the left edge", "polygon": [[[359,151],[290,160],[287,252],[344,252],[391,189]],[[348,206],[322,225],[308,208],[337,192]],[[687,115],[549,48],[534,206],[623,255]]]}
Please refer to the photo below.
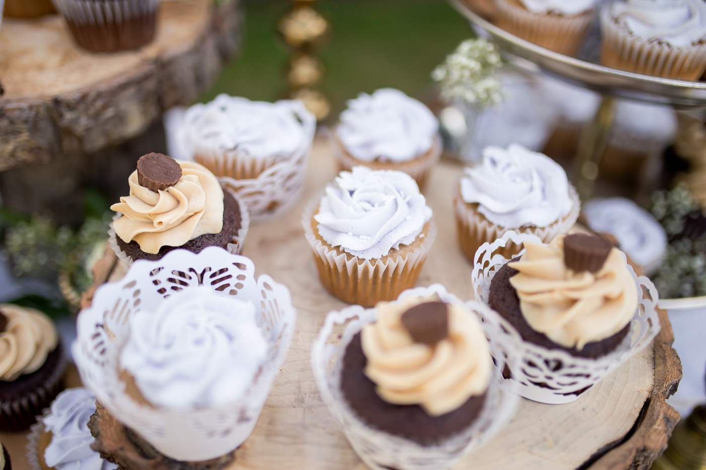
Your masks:
{"label": "dark wrapper of the chocolate cupcake cut off by the left edge", "polygon": [[64,389],[66,353],[61,339],[56,347],[59,349],[59,366],[52,370],[42,387],[8,402],[0,401],[0,430],[29,429],[35,423],[37,415],[42,414],[44,408],[52,404],[56,395]]}

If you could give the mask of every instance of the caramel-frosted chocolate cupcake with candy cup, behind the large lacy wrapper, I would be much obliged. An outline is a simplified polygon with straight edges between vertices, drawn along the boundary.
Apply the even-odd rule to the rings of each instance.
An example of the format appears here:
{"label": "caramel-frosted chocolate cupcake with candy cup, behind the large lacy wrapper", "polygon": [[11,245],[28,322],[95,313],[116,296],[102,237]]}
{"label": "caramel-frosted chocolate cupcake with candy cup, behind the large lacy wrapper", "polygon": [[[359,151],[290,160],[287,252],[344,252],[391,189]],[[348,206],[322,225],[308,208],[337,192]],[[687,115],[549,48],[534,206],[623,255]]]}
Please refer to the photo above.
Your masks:
{"label": "caramel-frosted chocolate cupcake with candy cup, behind the large lacy wrapper", "polygon": [[109,232],[114,251],[128,265],[159,260],[177,248],[241,250],[248,211],[200,164],[150,153],[140,157],[128,183],[130,195],[110,206],[121,216]]}

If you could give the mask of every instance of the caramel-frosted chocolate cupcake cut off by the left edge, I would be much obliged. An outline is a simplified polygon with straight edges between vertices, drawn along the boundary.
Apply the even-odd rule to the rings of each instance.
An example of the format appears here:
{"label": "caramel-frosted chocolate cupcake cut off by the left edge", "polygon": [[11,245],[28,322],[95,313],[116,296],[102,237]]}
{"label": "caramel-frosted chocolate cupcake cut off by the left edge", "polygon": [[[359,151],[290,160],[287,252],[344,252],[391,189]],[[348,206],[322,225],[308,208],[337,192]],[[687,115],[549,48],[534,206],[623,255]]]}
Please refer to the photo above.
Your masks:
{"label": "caramel-frosted chocolate cupcake cut off by the left edge", "polygon": [[64,352],[47,315],[0,305],[0,430],[28,429],[63,388]]}

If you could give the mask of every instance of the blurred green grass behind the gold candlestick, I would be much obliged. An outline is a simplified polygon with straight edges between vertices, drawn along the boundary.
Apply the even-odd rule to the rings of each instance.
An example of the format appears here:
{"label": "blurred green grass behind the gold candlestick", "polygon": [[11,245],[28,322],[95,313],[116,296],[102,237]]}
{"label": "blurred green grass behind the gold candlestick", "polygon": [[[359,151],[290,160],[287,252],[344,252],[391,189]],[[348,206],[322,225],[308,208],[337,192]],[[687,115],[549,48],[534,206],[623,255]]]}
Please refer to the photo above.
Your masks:
{"label": "blurred green grass behind the gold candlestick", "polygon": [[[287,0],[244,2],[241,52],[201,101],[218,93],[266,101],[286,96],[289,49],[275,25],[289,6]],[[433,68],[472,35],[445,0],[321,0],[316,6],[333,28],[318,54],[333,116],[359,92],[392,87],[419,97]]]}

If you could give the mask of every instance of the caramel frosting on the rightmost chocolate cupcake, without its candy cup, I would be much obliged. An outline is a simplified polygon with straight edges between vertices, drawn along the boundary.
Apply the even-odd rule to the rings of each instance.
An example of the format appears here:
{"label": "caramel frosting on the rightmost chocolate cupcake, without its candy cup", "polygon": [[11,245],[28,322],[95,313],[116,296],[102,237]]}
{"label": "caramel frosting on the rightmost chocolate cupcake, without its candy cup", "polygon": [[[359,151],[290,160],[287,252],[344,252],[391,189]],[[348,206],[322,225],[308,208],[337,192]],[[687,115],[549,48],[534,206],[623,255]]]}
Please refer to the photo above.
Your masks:
{"label": "caramel frosting on the rightmost chocolate cupcake, without its candy cup", "polygon": [[578,350],[623,330],[638,308],[638,290],[625,258],[612,248],[603,267],[573,272],[564,265],[564,236],[549,245],[525,242],[527,252],[509,263],[520,310],[533,330]]}

